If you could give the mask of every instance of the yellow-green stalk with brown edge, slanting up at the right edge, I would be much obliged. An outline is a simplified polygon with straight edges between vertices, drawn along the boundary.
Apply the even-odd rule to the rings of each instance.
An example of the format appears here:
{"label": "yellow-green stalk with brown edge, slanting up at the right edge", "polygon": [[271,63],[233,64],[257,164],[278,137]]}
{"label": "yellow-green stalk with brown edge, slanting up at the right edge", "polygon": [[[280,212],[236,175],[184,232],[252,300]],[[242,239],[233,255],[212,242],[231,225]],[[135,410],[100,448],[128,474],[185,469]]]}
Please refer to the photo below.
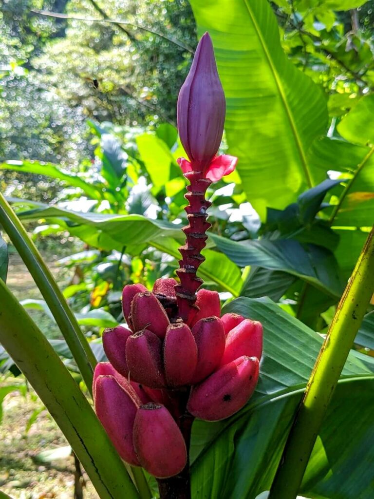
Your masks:
{"label": "yellow-green stalk with brown edge, slanting up at the right edge", "polygon": [[374,228],[317,357],[268,499],[296,498],[329,402],[373,292]]}

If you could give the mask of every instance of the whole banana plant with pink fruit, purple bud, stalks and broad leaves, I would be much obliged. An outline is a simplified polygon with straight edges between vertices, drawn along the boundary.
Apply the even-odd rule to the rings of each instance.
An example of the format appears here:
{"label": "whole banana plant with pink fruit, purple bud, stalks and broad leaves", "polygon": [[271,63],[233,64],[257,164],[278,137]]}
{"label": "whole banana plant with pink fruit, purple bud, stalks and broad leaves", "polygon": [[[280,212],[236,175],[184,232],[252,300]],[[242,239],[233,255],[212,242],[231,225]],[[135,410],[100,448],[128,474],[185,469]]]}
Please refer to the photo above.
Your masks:
{"label": "whole banana plant with pink fruit, purple bud, stalks and broad leaves", "polygon": [[[218,73],[205,34],[178,106],[187,156],[178,163],[189,182],[183,233],[179,224],[139,214],[44,206],[20,213],[25,221],[57,222],[100,250],[126,245],[131,256],[147,247],[167,253],[179,259],[179,280],[156,279],[152,291],[141,282],[124,287],[126,325],[104,332],[109,362],[95,367],[96,416],[3,280],[1,343],[54,415],[100,498],[151,497],[143,468],[156,477],[161,498],[369,499],[374,362],[353,347],[373,345],[372,196],[365,193],[373,182],[374,139],[362,122],[372,116],[357,106],[342,119],[340,137],[327,136],[322,90],[286,58],[265,0],[191,5],[199,33],[212,35]],[[216,156],[224,117],[218,74],[229,149]],[[371,96],[365,99],[370,106]],[[170,173],[171,157],[158,146]],[[262,218],[255,239],[248,237],[253,227],[244,240],[205,234],[205,195],[233,170],[234,156],[247,199]],[[337,178],[328,178],[331,165]],[[117,171],[108,170],[106,181]],[[186,181],[176,185],[184,189]],[[157,184],[155,196],[161,190]],[[10,221],[4,229],[31,273],[58,296],[45,266],[33,263],[38,258],[16,215],[2,200],[1,206]],[[4,279],[1,244],[0,257]],[[198,290],[202,279],[208,286]],[[230,293],[222,309],[227,295],[217,291]],[[324,326],[331,322],[325,340],[315,330],[323,329],[316,310]],[[75,326],[69,334],[81,345],[72,352],[80,365],[87,346]]]}

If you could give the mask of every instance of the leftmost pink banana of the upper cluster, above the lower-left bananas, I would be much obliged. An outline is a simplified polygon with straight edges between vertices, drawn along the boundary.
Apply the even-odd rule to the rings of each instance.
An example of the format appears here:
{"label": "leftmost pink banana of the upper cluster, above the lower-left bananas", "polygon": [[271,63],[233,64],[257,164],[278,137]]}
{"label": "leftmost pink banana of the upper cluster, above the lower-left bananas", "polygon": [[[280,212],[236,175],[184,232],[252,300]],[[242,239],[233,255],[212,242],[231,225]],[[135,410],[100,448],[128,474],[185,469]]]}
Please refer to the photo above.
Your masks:
{"label": "leftmost pink banana of the upper cluster, above the lower-left bananas", "polygon": [[105,329],[103,333],[103,347],[109,362],[122,376],[129,374],[126,362],[126,342],[133,334],[130,329],[116,326]]}

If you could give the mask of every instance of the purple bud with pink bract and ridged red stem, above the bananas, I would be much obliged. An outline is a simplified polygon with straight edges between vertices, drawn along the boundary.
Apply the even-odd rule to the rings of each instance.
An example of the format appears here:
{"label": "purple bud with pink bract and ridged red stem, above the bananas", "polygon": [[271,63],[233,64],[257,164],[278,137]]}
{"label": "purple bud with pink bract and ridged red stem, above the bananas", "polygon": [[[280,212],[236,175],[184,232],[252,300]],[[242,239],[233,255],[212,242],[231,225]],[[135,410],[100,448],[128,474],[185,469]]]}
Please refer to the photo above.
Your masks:
{"label": "purple bud with pink bract and ridged red stem, above the bananas", "polygon": [[222,140],[226,104],[215,63],[213,45],[205,33],[197,46],[191,69],[178,98],[178,131],[189,161],[180,158],[184,176],[189,181],[185,198],[188,205],[188,226],[182,230],[186,244],[179,249],[182,260],[177,270],[181,283],[176,286],[180,317],[188,322],[196,310],[196,291],[202,280],[196,276],[198,266],[204,261],[201,250],[205,247],[206,210],[211,203],[205,193],[212,181],[230,173],[236,158],[218,156]]}

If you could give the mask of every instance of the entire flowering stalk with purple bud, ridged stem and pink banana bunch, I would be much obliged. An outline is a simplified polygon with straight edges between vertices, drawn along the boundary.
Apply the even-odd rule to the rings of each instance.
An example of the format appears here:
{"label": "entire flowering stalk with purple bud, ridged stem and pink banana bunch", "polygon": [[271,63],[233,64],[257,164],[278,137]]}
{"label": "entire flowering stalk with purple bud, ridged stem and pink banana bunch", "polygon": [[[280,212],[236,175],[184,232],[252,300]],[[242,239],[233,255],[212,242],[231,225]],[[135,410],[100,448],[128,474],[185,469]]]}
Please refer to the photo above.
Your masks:
{"label": "entire flowering stalk with purple bud, ridged stem and pink banana bunch", "polygon": [[186,244],[177,275],[152,292],[125,286],[128,327],[103,335],[107,363],[96,367],[96,413],[121,457],[157,478],[161,499],[190,499],[189,442],[195,417],[218,421],[252,395],[262,354],[262,326],[235,314],[222,317],[219,294],[198,289],[204,261],[207,188],[233,171],[236,158],[216,156],[225,100],[213,47],[201,38],[178,99],[178,128],[188,159]]}

